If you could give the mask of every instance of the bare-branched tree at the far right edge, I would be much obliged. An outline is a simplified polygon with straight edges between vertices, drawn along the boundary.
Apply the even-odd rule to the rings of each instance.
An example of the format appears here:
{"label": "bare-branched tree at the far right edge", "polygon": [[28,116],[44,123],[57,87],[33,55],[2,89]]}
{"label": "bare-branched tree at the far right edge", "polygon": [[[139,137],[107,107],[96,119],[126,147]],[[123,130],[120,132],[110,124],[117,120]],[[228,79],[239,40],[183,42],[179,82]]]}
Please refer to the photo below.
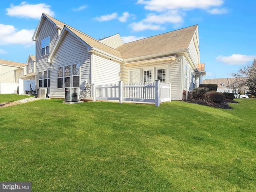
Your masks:
{"label": "bare-branched tree at the far right edge", "polygon": [[241,67],[232,76],[236,78],[239,87],[247,86],[250,93],[256,94],[256,58],[252,64]]}

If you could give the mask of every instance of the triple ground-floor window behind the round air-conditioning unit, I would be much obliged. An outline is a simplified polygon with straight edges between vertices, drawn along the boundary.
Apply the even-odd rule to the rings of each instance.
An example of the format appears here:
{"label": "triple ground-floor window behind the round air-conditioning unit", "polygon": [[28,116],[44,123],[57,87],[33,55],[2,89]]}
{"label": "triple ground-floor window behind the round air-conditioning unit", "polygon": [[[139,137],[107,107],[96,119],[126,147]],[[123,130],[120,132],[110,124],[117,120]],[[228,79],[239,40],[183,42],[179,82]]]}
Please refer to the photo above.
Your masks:
{"label": "triple ground-floor window behind the round air-conditioning unit", "polygon": [[80,64],[66,65],[58,67],[57,87],[80,87]]}

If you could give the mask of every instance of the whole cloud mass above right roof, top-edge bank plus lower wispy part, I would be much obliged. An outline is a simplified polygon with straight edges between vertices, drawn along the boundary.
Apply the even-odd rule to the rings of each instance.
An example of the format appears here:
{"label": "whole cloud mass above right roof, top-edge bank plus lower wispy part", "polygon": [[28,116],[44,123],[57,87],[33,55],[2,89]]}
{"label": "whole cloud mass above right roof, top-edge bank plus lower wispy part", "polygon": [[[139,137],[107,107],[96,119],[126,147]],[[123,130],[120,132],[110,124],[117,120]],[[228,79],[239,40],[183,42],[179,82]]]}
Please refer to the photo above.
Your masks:
{"label": "whole cloud mass above right roof, top-edge bank plus lower wispy part", "polygon": [[[137,0],[137,4],[145,5],[144,8],[151,10],[152,13],[148,14],[146,19],[138,22],[137,25],[132,24],[131,27],[135,29],[134,31],[138,31],[138,28],[140,30],[152,29],[146,26],[155,26],[156,24],[159,28],[163,28],[160,25],[166,23],[171,23],[174,28],[178,28],[182,26],[183,18],[188,10],[201,9],[211,14],[227,12],[226,8],[219,8],[224,4],[224,0]],[[144,28],[142,24],[144,24]],[[154,30],[156,29],[154,28]]]}

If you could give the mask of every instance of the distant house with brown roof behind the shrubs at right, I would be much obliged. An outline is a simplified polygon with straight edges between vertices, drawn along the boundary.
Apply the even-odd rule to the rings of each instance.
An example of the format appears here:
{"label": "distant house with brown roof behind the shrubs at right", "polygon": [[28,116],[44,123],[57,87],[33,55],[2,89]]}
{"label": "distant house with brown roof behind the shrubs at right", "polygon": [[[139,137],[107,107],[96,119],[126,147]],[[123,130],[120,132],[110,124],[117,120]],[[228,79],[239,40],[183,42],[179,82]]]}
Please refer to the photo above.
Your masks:
{"label": "distant house with brown roof behind the shrubs at right", "polygon": [[203,80],[203,84],[217,84],[217,92],[238,93],[236,78],[218,78]]}

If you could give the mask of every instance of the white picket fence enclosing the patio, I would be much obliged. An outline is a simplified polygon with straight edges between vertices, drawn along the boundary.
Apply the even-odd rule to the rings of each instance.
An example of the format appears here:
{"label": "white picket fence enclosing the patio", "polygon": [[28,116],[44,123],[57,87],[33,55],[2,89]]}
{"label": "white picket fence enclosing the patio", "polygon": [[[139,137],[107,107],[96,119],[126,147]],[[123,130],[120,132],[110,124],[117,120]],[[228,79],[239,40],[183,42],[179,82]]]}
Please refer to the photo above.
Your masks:
{"label": "white picket fence enclosing the patio", "polygon": [[119,100],[135,102],[152,102],[156,106],[171,101],[171,84],[160,83],[123,83],[92,84],[92,100]]}

